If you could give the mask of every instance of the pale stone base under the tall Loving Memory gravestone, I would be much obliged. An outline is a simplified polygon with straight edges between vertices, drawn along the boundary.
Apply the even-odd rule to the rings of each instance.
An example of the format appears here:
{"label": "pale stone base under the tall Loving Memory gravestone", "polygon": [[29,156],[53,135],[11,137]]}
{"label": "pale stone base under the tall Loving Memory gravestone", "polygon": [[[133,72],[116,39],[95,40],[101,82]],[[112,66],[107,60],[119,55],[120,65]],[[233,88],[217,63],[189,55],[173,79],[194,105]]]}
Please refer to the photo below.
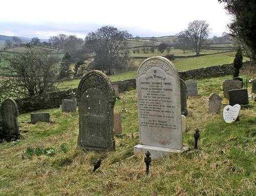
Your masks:
{"label": "pale stone base under the tall Loving Memory gravestone", "polygon": [[172,149],[172,148],[163,148],[157,146],[148,146],[138,144],[133,147],[134,155],[145,154],[146,151],[149,151],[152,159],[161,159],[170,153],[183,153],[184,151],[189,150],[189,147],[183,147],[182,149]]}

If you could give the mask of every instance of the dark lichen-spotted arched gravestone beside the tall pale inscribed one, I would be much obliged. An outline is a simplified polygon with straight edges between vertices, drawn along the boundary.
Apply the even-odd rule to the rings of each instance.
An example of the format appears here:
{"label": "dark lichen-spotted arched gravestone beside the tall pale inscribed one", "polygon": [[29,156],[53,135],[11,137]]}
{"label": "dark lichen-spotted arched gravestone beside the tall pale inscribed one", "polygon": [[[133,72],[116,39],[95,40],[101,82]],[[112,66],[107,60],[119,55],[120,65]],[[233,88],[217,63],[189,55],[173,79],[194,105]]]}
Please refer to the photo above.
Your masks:
{"label": "dark lichen-spotted arched gravestone beside the tall pale inscribed one", "polygon": [[87,150],[115,149],[115,90],[110,79],[100,71],[87,73],[77,90],[79,135],[77,145]]}

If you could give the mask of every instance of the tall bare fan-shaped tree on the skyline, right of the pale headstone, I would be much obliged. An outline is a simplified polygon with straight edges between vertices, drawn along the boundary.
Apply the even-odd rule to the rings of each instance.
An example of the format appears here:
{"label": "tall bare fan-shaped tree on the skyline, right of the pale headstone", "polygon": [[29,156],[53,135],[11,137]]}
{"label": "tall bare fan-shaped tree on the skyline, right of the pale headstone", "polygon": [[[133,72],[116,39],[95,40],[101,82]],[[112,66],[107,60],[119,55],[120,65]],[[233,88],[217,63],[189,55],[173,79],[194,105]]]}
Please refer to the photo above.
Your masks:
{"label": "tall bare fan-shaped tree on the skyline, right of the pale headstone", "polygon": [[206,43],[206,39],[210,33],[209,24],[205,20],[194,20],[188,24],[186,33],[197,56],[199,56],[202,46]]}

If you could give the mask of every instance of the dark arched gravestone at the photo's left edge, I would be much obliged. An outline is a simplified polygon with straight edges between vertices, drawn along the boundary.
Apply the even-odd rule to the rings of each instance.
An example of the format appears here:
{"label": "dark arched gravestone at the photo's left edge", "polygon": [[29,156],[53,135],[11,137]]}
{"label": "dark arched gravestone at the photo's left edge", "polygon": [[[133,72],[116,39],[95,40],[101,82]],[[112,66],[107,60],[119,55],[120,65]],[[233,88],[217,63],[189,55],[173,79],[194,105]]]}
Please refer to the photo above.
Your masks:
{"label": "dark arched gravestone at the photo's left edge", "polygon": [[11,99],[6,99],[2,104],[2,116],[3,116],[3,132],[1,133],[2,139],[10,141],[12,139],[19,139],[19,127],[18,127],[18,106],[17,103]]}

